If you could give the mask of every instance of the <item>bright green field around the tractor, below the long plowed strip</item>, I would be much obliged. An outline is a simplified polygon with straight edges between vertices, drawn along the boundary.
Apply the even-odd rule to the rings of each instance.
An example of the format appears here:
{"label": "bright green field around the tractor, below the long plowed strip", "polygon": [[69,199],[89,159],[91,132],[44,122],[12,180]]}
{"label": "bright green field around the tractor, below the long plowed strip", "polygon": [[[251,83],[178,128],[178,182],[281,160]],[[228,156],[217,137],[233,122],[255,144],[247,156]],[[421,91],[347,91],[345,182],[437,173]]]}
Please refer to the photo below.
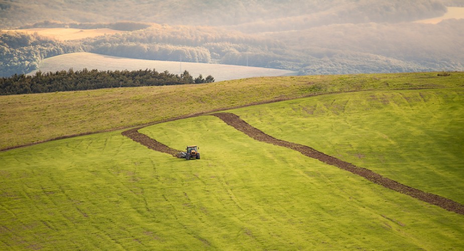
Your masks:
{"label": "bright green field around the tractor, below the long plowed strip", "polygon": [[[192,126],[194,125],[194,126]],[[104,133],[0,153],[0,247],[441,249],[462,215],[256,142],[213,116],[144,133],[185,161]]]}

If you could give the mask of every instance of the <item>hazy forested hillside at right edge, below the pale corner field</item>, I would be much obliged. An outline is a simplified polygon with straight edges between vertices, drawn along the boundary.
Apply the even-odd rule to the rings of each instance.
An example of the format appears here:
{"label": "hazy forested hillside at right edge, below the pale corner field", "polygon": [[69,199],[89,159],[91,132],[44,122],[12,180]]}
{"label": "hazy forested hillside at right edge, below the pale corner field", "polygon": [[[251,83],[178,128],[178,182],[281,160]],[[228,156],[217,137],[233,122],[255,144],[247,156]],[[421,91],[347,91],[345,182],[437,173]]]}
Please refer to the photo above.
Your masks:
{"label": "hazy forested hillside at right edge, below the pale corner field", "polygon": [[307,55],[302,71],[308,74],[462,71],[463,28],[461,19],[437,25],[331,25],[267,36]]}

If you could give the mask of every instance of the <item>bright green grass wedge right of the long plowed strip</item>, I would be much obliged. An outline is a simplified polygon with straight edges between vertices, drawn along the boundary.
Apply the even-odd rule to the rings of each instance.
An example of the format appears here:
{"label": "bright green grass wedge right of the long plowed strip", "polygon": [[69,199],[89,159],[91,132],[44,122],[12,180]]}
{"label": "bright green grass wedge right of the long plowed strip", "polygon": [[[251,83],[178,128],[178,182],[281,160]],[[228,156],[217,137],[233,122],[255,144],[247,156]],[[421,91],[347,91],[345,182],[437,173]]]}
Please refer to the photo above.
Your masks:
{"label": "bright green grass wedge right of the long plowed strip", "polygon": [[463,96],[461,88],[367,91],[233,112],[278,139],[464,203]]}

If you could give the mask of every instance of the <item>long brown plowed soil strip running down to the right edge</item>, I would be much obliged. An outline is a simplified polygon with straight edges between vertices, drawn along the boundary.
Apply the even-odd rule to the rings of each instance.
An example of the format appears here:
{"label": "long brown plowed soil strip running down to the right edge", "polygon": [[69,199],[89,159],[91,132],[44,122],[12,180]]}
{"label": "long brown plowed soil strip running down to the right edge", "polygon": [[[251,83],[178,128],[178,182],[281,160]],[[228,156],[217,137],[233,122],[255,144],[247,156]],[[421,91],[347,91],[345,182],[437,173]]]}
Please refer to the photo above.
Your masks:
{"label": "long brown plowed soil strip running down to the right edge", "polygon": [[277,145],[277,146],[281,146],[281,147],[290,148],[290,149],[298,151],[298,152],[302,153],[303,155],[308,156],[310,158],[317,159],[317,160],[319,160],[321,162],[324,162],[326,164],[329,164],[329,165],[338,167],[340,169],[343,169],[343,170],[352,172],[354,174],[357,174],[357,175],[359,175],[361,177],[366,178],[367,180],[370,180],[370,181],[372,181],[372,182],[374,182],[376,184],[382,185],[382,186],[384,186],[386,188],[389,188],[391,190],[394,190],[394,191],[409,195],[409,196],[411,196],[413,198],[417,198],[419,200],[425,201],[425,202],[430,203],[432,205],[442,207],[442,208],[444,208],[444,209],[446,209],[448,211],[456,212],[458,214],[464,214],[464,205],[462,205],[462,204],[460,204],[458,202],[455,202],[453,200],[450,200],[450,199],[447,199],[447,198],[444,198],[444,197],[441,197],[441,196],[438,196],[438,195],[435,195],[435,194],[427,193],[427,192],[424,192],[424,191],[421,191],[421,190],[418,190],[418,189],[403,185],[403,184],[398,183],[398,182],[396,182],[394,180],[383,177],[380,174],[374,173],[373,171],[371,171],[369,169],[357,167],[357,166],[355,166],[355,165],[353,165],[351,163],[348,163],[348,162],[339,160],[337,158],[328,156],[328,155],[326,155],[324,153],[321,153],[319,151],[316,151],[316,150],[314,150],[314,149],[312,149],[310,147],[299,145],[299,144],[296,144],[296,143],[287,142],[287,141],[278,140],[278,139],[276,139],[276,138],[274,138],[272,136],[269,136],[269,135],[263,133],[262,131],[260,131],[260,130],[258,130],[256,128],[250,126],[250,124],[248,124],[247,122],[242,120],[236,114],[220,112],[220,113],[214,113],[212,115],[222,119],[229,126],[232,126],[232,127],[236,128],[237,130],[245,133],[246,135],[250,136],[251,138],[253,138],[253,139],[257,140],[257,141],[261,141],[261,142],[265,142],[265,143],[269,143],[269,144],[273,144],[273,145]]}

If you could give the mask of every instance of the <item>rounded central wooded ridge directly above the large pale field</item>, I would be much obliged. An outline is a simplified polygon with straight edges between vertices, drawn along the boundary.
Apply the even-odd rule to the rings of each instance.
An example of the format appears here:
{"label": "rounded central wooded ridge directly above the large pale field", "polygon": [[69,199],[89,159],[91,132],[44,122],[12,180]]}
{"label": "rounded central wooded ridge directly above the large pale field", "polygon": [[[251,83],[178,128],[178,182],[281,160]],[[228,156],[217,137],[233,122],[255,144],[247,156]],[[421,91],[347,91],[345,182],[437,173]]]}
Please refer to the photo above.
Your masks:
{"label": "rounded central wooded ridge directly above the large pale field", "polygon": [[211,27],[155,24],[131,33],[86,39],[83,45],[91,48],[89,52],[138,59],[259,67],[272,67],[276,60],[298,61],[276,40]]}

